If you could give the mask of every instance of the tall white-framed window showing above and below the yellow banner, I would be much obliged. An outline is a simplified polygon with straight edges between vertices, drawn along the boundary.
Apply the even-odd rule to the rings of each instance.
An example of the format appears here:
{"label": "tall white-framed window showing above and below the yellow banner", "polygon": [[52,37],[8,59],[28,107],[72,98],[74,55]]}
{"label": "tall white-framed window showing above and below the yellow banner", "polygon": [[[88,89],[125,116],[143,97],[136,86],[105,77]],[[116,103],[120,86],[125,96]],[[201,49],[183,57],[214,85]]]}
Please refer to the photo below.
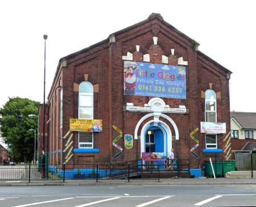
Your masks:
{"label": "tall white-framed window showing above and below the yellow banner", "polygon": [[[93,119],[93,85],[87,81],[79,85],[79,118]],[[93,148],[93,133],[79,132],[79,148]]]}

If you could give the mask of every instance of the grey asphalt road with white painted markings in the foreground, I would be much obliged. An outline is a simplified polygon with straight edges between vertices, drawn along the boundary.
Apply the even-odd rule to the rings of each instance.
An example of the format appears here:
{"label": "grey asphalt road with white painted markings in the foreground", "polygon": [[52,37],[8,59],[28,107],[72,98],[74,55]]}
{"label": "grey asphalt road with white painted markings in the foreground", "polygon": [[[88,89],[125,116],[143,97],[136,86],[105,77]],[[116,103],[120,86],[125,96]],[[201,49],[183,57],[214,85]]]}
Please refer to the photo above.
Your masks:
{"label": "grey asphalt road with white painted markings in the foreground", "polygon": [[0,187],[0,206],[256,206],[256,185]]}

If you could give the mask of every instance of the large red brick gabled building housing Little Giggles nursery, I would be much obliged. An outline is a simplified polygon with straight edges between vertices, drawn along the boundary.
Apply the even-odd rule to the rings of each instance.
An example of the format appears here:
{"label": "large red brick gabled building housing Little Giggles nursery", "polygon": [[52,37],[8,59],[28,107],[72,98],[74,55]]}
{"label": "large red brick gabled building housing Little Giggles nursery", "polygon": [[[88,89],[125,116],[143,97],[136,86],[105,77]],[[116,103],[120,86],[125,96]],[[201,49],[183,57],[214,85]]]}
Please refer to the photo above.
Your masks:
{"label": "large red brick gabled building housing Little Giggles nursery", "polygon": [[[131,163],[142,152],[164,157],[173,149],[198,168],[205,152],[221,152],[225,133],[199,130],[193,139],[191,132],[200,122],[230,131],[231,72],[198,47],[153,13],[61,58],[48,95],[49,163]],[[102,120],[102,131],[70,131],[70,119],[81,118]]]}

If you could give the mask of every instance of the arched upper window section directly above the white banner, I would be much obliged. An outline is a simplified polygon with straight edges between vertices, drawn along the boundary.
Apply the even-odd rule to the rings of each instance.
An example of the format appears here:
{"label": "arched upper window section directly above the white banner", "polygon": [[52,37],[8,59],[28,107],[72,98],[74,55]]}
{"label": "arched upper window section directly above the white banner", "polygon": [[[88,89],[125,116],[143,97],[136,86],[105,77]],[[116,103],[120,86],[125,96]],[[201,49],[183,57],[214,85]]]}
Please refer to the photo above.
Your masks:
{"label": "arched upper window section directly above the white banner", "polygon": [[216,93],[212,89],[205,92],[205,122],[217,122]]}

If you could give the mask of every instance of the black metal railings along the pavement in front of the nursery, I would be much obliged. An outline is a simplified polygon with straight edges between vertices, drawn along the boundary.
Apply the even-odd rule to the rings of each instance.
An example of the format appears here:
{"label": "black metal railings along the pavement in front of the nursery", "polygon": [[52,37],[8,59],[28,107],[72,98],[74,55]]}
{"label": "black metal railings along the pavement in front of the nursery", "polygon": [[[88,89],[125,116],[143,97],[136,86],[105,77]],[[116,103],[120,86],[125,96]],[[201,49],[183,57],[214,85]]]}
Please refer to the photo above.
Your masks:
{"label": "black metal railings along the pavement in front of the nursery", "polygon": [[0,180],[127,180],[189,177],[187,162],[140,164],[27,164],[0,167]]}

